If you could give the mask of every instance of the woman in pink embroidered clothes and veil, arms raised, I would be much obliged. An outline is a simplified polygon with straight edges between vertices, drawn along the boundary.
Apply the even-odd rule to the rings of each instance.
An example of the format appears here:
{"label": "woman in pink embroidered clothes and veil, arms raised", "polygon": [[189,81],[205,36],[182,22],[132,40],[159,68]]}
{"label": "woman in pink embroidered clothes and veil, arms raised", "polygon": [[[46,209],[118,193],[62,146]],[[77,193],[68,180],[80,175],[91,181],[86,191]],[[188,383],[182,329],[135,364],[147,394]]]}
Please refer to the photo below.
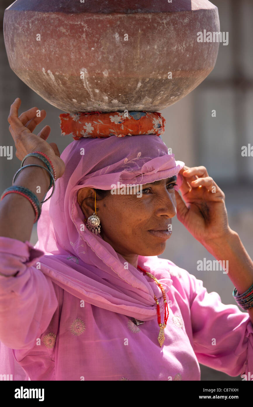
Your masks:
{"label": "woman in pink embroidered clothes and veil, arms raised", "polygon": [[[0,202],[0,341],[11,373],[20,378],[22,367],[26,380],[197,381],[199,362],[230,376],[252,372],[253,308],[222,304],[201,280],[157,257],[177,214],[211,254],[229,261],[238,292],[252,291],[253,263],[205,167],[175,162],[152,134],[82,138],[60,158],[46,142],[49,126],[32,134],[45,111],[18,118],[19,105],[18,98],[8,118],[17,157],[41,151],[58,181],[42,206],[35,248],[28,199],[9,193]],[[44,166],[34,156],[25,164]],[[142,195],[112,194],[118,181],[140,184]],[[47,171],[31,166],[14,185],[41,201],[49,182]],[[93,214],[100,225],[86,222]]]}

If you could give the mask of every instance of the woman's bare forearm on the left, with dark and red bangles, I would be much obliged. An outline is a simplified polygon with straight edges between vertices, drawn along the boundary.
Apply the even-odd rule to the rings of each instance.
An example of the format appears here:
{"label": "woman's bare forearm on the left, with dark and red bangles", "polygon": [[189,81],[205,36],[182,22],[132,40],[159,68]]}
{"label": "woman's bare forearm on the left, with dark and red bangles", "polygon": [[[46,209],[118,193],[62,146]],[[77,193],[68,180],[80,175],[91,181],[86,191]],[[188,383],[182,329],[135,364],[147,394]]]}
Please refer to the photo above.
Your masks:
{"label": "woman's bare forearm on the left, with dark and red bangles", "polygon": [[[26,158],[24,166],[28,164],[39,164],[47,168],[36,157]],[[20,171],[14,185],[30,189],[41,202],[49,188],[50,175],[42,168],[32,166]],[[38,186],[40,186],[40,193],[37,193]],[[10,193],[0,201],[0,236],[10,237],[22,242],[30,241],[34,220],[35,212],[32,204],[22,195]]]}

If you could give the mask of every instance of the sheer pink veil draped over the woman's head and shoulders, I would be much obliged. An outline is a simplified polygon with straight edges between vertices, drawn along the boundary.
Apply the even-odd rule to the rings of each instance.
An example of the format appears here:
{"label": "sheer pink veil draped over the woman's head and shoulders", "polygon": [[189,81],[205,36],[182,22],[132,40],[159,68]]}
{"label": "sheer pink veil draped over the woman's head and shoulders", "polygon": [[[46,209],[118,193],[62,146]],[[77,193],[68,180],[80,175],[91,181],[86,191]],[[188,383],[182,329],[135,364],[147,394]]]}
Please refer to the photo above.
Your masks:
{"label": "sheer pink veil draped over the woman's head and shoulders", "polygon": [[[45,253],[40,259],[41,271],[90,304],[143,321],[156,318],[154,294],[162,313],[162,291],[131,264],[126,269],[126,260],[99,234],[86,228],[77,193],[84,186],[110,190],[117,182],[147,184],[172,177],[184,162],[175,161],[162,139],[152,134],[81,138],[71,142],[61,158],[65,173],[56,180],[54,194],[42,205],[37,223],[35,248]],[[180,174],[177,183],[178,190]],[[138,265],[159,279],[159,258],[151,257],[157,259],[156,267],[150,268],[150,257],[145,256],[139,256]],[[160,281],[168,292],[172,284],[169,273]]]}

